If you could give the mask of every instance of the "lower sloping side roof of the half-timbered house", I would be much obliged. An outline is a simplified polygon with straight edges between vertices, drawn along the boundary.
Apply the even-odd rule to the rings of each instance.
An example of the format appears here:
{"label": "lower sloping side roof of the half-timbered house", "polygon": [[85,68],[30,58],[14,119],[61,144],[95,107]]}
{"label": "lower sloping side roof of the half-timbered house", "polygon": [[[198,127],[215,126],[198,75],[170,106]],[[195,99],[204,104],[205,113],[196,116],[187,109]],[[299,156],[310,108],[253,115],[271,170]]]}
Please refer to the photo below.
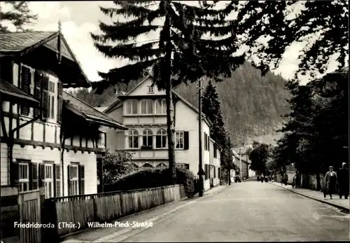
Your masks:
{"label": "lower sloping side roof of the half-timbered house", "polygon": [[106,114],[97,111],[89,104],[86,104],[82,100],[70,95],[67,92],[63,92],[64,106],[66,109],[69,109],[73,113],[83,116],[86,120],[90,120],[95,123],[100,123],[101,125],[106,125],[110,127],[116,127],[119,129],[127,130],[123,124],[118,123],[118,121],[106,116]]}

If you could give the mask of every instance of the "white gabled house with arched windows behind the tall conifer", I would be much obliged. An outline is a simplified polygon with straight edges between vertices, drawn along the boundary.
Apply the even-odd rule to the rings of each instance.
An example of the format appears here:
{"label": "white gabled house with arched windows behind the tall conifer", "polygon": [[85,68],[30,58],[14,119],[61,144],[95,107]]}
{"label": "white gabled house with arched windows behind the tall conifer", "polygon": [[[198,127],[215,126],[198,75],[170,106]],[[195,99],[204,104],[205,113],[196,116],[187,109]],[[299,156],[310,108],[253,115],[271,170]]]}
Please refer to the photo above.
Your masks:
{"label": "white gabled house with arched windows behind the tall conifer", "polygon": [[[197,175],[199,111],[181,95],[174,91],[172,94],[176,166],[188,168]],[[165,90],[153,86],[152,76],[144,78],[127,94],[118,96],[104,113],[123,123],[129,130],[106,130],[109,151],[132,153],[134,167],[167,167],[166,109]],[[202,161],[204,189],[207,190],[211,184],[214,186],[219,183],[220,148],[209,137],[210,121],[204,114],[202,117]]]}

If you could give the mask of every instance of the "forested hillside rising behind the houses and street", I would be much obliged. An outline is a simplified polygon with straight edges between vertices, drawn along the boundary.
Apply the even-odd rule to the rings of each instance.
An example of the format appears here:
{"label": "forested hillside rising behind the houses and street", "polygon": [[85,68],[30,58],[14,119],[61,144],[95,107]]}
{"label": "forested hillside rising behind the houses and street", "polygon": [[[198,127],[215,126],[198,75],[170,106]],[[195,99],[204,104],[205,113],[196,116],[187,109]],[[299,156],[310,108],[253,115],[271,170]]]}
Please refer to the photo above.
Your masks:
{"label": "forested hillside rising behind the houses and street", "polygon": [[[207,80],[203,81],[202,87],[205,88],[207,83]],[[284,83],[281,76],[272,73],[261,77],[260,71],[248,63],[237,69],[231,78],[214,83],[221,101],[226,129],[230,132],[234,146],[252,140],[270,144],[274,137],[279,137],[274,130],[281,127],[281,115],[288,112],[286,99],[290,97],[284,89]],[[137,81],[130,85],[118,85],[109,88],[102,95],[95,95],[93,91],[89,93],[85,89],[79,90],[76,95],[92,106],[101,106],[116,91],[127,92],[136,84]],[[196,84],[180,85],[176,92],[195,106],[198,105]]]}

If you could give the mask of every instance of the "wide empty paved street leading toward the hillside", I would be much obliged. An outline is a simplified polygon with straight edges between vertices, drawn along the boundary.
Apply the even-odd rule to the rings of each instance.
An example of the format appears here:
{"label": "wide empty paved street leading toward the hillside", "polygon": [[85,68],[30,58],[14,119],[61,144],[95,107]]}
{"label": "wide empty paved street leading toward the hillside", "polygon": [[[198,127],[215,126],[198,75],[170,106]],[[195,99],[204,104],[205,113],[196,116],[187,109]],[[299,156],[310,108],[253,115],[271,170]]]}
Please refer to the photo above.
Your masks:
{"label": "wide empty paved street leading toward the hillside", "polygon": [[349,240],[349,214],[269,183],[247,181],[203,197],[123,242],[321,240]]}

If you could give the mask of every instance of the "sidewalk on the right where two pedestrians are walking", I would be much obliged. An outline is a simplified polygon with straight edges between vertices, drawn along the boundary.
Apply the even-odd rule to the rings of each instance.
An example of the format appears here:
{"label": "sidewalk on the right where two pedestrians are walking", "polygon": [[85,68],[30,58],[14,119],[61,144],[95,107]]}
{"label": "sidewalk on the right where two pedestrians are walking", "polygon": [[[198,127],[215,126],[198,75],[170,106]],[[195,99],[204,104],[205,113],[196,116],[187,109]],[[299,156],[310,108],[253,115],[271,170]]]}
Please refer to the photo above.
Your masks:
{"label": "sidewalk on the right where two pedestrians are walking", "polygon": [[[299,195],[303,195],[304,197],[309,197],[313,200],[316,200],[318,202],[323,202],[325,204],[330,204],[334,207],[337,207],[339,209],[343,209],[344,211],[349,212],[349,204],[350,200],[345,200],[344,197],[342,199],[339,198],[339,195],[335,194],[332,195],[332,200],[330,200],[329,195],[327,196],[326,199],[323,197],[323,193],[321,191],[317,190],[310,190],[310,189],[304,189],[304,188],[293,188],[291,185],[281,186],[281,183],[279,182],[271,182],[269,183],[274,184],[275,186],[279,186],[281,188],[284,188],[286,190],[290,190],[293,193],[297,193]],[[349,198],[349,197],[348,197]]]}

